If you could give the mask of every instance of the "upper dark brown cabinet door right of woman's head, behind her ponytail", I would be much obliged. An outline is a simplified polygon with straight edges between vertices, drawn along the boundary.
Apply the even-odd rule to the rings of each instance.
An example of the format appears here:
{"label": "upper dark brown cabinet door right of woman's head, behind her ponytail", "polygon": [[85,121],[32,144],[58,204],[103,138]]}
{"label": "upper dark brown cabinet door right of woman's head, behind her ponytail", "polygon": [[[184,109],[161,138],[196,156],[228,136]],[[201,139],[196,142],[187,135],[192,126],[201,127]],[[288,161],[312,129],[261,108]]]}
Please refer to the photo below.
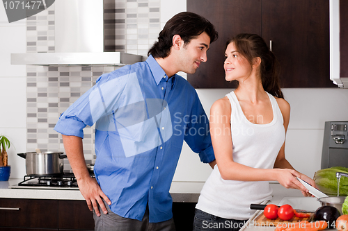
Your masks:
{"label": "upper dark brown cabinet door right of woman's head, behind her ponytail", "polygon": [[329,1],[262,0],[262,37],[272,41],[282,87],[337,87],[329,78]]}

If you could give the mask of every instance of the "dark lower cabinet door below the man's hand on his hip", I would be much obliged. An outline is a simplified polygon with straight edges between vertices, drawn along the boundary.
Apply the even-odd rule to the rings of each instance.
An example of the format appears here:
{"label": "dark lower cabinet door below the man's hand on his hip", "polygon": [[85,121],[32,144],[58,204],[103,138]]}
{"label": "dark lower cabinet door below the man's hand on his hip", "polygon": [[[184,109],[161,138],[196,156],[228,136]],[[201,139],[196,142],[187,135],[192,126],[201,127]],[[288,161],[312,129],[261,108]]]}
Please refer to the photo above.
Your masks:
{"label": "dark lower cabinet door below the man's hand on his hip", "polygon": [[94,230],[93,212],[85,200],[58,201],[59,230]]}

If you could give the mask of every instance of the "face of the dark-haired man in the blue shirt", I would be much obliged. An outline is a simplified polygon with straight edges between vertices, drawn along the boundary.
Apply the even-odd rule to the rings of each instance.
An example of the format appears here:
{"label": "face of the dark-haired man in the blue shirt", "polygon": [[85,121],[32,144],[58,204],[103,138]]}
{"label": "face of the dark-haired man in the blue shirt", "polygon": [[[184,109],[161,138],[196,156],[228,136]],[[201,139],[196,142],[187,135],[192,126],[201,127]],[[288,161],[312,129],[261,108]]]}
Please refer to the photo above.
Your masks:
{"label": "face of the dark-haired man in the blue shirt", "polygon": [[207,61],[207,50],[209,49],[210,37],[203,32],[188,44],[180,47],[180,71],[194,74],[201,62]]}

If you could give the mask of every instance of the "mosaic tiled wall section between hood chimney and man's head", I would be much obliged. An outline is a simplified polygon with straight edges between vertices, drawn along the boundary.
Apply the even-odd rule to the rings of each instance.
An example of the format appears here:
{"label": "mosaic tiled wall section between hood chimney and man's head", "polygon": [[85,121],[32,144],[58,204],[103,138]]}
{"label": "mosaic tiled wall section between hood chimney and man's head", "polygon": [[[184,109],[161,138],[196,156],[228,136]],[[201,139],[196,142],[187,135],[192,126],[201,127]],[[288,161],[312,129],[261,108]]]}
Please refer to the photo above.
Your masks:
{"label": "mosaic tiled wall section between hood chimney and man's head", "polygon": [[104,51],[147,55],[160,31],[160,0],[104,0]]}

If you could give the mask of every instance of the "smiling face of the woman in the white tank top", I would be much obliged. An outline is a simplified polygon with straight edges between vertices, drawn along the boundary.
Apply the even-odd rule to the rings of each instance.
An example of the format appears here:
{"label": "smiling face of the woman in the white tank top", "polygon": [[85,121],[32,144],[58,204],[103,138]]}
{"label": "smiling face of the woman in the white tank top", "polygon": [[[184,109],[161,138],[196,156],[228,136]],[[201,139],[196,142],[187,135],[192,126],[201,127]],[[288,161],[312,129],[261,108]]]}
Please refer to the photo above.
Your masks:
{"label": "smiling face of the woman in the white tank top", "polygon": [[231,42],[228,44],[225,52],[226,60],[223,64],[225,69],[225,79],[227,81],[246,80],[251,74],[251,65],[235,48],[235,44]]}

